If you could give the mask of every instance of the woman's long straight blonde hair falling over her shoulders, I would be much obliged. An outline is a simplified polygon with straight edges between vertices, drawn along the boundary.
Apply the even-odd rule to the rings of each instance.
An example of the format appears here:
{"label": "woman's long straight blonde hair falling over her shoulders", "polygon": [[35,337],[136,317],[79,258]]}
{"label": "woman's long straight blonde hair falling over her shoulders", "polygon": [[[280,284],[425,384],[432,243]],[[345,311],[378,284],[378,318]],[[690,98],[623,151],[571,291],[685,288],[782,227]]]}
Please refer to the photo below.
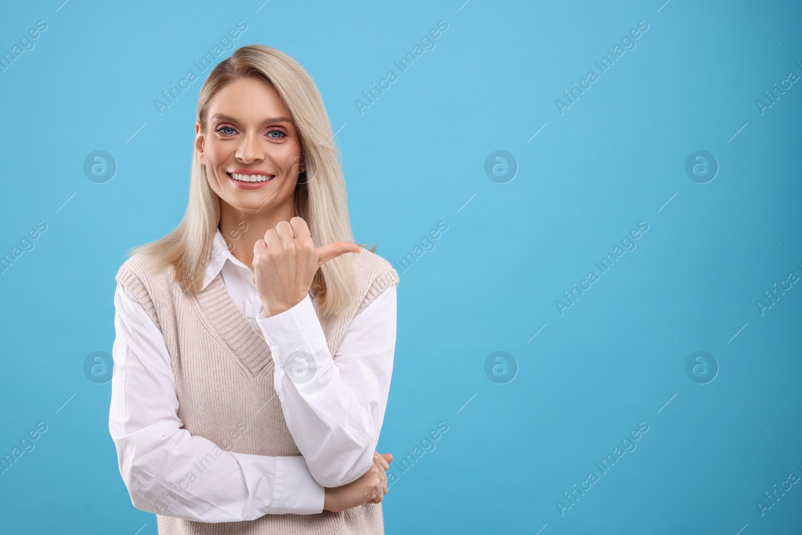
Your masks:
{"label": "woman's long straight blonde hair falling over her shoulders", "polygon": [[[196,120],[201,129],[206,128],[213,97],[241,78],[261,79],[273,87],[298,129],[305,172],[295,186],[295,213],[309,225],[314,245],[354,241],[341,155],[334,144],[326,107],[310,75],[289,55],[264,45],[248,45],[217,64],[198,96]],[[306,180],[300,180],[302,177]],[[220,203],[209,186],[205,166],[193,150],[184,217],[172,232],[129,253],[142,253],[157,269],[174,266],[181,289],[199,293],[220,223]],[[311,290],[323,314],[342,314],[353,306],[356,279],[352,255],[346,253],[323,264],[314,275]]]}

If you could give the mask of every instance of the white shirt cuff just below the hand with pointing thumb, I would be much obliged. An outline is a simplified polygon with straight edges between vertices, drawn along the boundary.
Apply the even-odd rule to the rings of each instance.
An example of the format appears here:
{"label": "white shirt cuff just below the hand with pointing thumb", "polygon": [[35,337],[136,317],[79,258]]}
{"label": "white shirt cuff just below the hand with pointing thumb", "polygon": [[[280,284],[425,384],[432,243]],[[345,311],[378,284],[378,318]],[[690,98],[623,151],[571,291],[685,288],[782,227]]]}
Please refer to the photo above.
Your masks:
{"label": "white shirt cuff just below the hand with pointing thumb", "polygon": [[295,351],[316,355],[326,347],[326,334],[323,333],[309,295],[281,314],[269,318],[264,316],[265,312],[262,311],[257,316],[257,324],[273,356],[284,355],[286,358]]}

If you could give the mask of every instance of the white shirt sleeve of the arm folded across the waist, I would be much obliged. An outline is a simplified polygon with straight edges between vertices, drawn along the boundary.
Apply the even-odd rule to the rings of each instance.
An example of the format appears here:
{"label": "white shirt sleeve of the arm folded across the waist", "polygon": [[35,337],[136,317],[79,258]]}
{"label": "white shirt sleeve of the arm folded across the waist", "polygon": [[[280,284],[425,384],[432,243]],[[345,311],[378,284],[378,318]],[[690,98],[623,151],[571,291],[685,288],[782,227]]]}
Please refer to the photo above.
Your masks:
{"label": "white shirt sleeve of the arm folded across the waist", "polygon": [[227,452],[181,428],[164,338],[119,282],[112,353],[109,431],[137,509],[202,522],[322,512],[325,489],[302,456]]}

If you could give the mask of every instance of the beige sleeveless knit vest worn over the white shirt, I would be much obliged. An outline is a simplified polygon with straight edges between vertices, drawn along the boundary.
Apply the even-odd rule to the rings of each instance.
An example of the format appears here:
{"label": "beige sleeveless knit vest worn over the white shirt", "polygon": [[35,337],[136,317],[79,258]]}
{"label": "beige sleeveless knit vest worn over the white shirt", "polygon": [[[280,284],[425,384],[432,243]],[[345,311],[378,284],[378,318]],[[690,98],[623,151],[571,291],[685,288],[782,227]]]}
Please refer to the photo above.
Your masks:
{"label": "beige sleeveless knit vest worn over the white shirt", "polygon": [[[318,314],[331,355],[354,316],[399,282],[398,274],[383,257],[367,249],[350,256],[358,287],[354,304],[346,314],[333,318]],[[264,335],[254,329],[233,301],[221,274],[195,297],[185,294],[172,274],[172,267],[152,270],[142,255],[135,254],[119,268],[115,279],[139,300],[164,335],[183,428],[226,451],[300,456],[273,388],[273,358]],[[317,312],[318,302],[312,302]],[[224,493],[219,499],[229,500]],[[161,500],[154,496],[154,509],[164,507],[169,503],[166,500],[167,496]],[[156,513],[156,521],[162,535],[384,533],[381,504],[360,505],[342,513],[266,514],[253,521],[216,524]]]}

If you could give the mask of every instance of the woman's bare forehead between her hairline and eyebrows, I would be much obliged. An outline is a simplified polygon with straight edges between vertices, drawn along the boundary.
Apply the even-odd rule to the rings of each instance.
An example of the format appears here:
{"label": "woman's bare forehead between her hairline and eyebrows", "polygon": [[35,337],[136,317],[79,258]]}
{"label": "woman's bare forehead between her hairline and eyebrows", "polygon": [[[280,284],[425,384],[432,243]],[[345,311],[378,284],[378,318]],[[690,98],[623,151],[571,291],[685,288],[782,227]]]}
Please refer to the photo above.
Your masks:
{"label": "woman's bare forehead between her hairline and eyebrows", "polygon": [[209,117],[225,115],[244,123],[261,123],[269,117],[290,117],[273,87],[255,78],[236,79],[217,91],[209,102]]}

